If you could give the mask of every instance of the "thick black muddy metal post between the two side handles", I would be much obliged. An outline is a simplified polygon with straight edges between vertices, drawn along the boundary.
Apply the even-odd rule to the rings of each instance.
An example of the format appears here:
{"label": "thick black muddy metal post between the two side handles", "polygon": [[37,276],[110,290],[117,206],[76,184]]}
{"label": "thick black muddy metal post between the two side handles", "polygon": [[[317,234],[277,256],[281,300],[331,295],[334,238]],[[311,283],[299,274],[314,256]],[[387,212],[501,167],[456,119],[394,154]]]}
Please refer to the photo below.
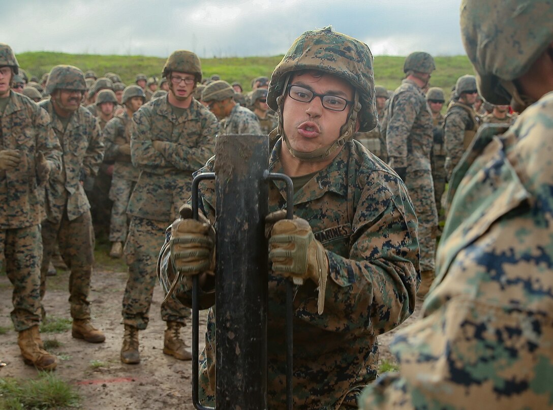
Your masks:
{"label": "thick black muddy metal post between the two side handles", "polygon": [[267,409],[267,135],[219,135],[216,189],[216,409]]}

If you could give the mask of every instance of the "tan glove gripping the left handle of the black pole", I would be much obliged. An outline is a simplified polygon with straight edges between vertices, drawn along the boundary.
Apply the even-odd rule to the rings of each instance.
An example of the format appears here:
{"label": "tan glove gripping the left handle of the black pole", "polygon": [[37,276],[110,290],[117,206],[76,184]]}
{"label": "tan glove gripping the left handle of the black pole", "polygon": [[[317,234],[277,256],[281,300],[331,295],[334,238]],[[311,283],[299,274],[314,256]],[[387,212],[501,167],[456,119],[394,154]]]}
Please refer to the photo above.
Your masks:
{"label": "tan glove gripping the left handle of the black pole", "polygon": [[171,225],[170,251],[175,270],[184,276],[215,271],[215,229],[200,213],[200,220],[192,218],[188,205],[180,209],[181,219]]}

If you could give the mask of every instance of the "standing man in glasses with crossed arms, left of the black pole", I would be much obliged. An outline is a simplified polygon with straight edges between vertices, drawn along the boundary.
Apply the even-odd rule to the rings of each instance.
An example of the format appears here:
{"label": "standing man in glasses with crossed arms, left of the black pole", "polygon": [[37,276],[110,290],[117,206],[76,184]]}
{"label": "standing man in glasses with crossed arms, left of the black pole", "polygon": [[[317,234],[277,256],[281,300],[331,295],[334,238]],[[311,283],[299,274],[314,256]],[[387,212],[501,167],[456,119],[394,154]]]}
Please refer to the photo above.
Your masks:
{"label": "standing man in glasses with crossed arms, left of the black pole", "polygon": [[[201,82],[200,59],[178,50],[167,59],[163,76],[171,91],[134,113],[131,158],[140,170],[127,212],[132,216],[124,248],[129,278],[123,297],[124,363],[138,363],[138,330],[148,325],[155,285],[155,265],[165,239],[166,225],[190,197],[192,172],[205,165],[215,149],[217,119],[192,93]],[[164,353],[180,360],[192,355],[179,332],[190,309],[175,301],[161,304],[167,322]]]}

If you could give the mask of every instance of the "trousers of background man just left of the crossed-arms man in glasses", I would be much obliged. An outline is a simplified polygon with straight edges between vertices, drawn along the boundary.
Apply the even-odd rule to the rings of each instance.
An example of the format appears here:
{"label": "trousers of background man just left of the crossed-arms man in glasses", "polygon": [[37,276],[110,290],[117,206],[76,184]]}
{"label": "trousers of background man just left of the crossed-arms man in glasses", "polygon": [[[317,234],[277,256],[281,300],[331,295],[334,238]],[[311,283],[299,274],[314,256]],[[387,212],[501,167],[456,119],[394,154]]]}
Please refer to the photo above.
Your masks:
{"label": "trousers of background man just left of the crossed-arms man in glasses", "polygon": [[109,199],[113,201],[113,206],[109,223],[110,242],[124,242],[127,239],[127,206],[135,184],[135,181],[119,178],[116,175],[111,180]]}

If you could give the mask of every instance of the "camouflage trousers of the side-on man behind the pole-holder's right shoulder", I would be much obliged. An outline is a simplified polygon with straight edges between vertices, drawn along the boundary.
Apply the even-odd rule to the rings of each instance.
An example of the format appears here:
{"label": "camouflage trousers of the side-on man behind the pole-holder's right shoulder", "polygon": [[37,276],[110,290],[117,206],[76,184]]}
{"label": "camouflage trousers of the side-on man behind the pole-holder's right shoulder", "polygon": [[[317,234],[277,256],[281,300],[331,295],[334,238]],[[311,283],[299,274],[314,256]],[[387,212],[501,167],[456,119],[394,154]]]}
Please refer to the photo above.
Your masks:
{"label": "camouflage trousers of the side-on man behind the pole-holder's right shoulder", "polygon": [[430,171],[409,171],[404,182],[419,219],[420,270],[434,272],[438,214],[432,175]]}

